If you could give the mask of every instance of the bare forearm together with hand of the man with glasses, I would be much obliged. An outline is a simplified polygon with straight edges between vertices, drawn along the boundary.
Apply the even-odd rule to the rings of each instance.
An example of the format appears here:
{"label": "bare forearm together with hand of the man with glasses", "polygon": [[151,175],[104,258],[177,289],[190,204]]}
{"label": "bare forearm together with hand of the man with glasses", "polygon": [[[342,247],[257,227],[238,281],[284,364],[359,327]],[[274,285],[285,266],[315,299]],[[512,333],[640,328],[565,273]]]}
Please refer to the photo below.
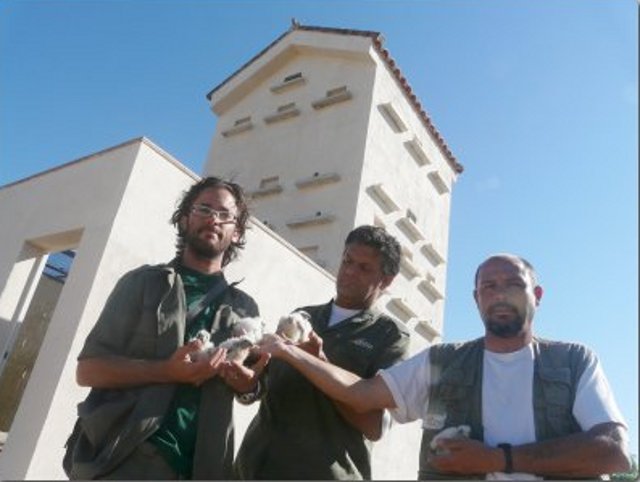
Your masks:
{"label": "bare forearm together with hand of the man with glasses", "polygon": [[94,388],[126,388],[150,383],[200,385],[218,374],[225,350],[215,350],[209,358],[192,361],[189,353],[200,349],[194,341],[178,348],[166,360],[137,360],[124,357],[83,358],[78,361],[78,385]]}

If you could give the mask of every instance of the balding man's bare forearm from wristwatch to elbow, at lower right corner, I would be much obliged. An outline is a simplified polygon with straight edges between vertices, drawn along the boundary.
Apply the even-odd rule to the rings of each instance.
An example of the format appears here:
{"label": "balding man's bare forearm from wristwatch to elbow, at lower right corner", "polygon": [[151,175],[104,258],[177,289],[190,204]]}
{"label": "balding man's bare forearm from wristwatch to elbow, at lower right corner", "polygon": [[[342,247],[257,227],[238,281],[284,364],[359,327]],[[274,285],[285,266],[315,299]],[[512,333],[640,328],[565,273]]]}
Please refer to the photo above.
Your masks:
{"label": "balding man's bare forearm from wristwatch to elbow, at lower right corner", "polygon": [[567,477],[626,472],[626,430],[606,423],[587,432],[514,447],[513,467],[515,472]]}

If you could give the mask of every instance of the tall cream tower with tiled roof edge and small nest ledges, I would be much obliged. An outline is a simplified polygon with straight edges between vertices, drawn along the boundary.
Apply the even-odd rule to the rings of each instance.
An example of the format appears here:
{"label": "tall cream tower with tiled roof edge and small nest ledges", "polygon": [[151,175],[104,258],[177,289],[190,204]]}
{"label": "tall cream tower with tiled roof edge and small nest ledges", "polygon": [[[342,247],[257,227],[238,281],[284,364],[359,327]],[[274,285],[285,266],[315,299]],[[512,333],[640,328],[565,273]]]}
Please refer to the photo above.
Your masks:
{"label": "tall cream tower with tiled roof edge and small nest ledges", "polygon": [[351,229],[384,226],[403,259],[380,306],[440,338],[462,166],[381,35],[292,22],[207,98],[219,119],[205,175],[233,177],[259,220],[333,273]]}

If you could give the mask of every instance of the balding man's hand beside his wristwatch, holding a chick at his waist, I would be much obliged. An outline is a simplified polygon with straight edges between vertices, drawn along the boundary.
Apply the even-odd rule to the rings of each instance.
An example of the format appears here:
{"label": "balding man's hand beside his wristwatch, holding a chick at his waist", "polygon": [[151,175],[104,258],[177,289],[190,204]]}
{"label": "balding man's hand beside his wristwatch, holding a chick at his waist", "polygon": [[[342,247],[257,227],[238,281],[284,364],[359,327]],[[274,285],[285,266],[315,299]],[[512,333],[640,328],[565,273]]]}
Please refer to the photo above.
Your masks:
{"label": "balding man's hand beside his wristwatch, holding a chick at his waist", "polygon": [[499,472],[504,466],[501,449],[477,440],[443,438],[436,442],[438,453],[429,456],[429,464],[438,472],[471,475]]}

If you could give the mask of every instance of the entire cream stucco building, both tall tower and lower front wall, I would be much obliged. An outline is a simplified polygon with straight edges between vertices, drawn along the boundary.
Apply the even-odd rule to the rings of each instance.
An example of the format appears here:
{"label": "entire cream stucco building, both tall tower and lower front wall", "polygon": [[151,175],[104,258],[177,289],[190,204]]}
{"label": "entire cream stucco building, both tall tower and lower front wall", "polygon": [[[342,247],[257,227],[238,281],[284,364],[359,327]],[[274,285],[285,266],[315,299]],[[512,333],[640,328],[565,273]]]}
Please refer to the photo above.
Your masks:
{"label": "entire cream stucco building, both tall tower and lower front wall", "polygon": [[[380,306],[413,330],[413,351],[438,340],[462,168],[379,35],[294,26],[208,98],[219,121],[203,175],[235,176],[254,196],[247,247],[227,277],[244,278],[268,329],[333,296],[346,234],[372,223],[404,252]],[[171,259],[168,220],[197,178],[139,138],[0,187],[0,222],[11,226],[0,232],[0,387],[23,348],[47,256],[75,253],[57,303],[47,303],[55,308],[0,452],[0,479],[65,478],[64,442],[87,394],[75,383],[76,357],[120,276]],[[236,406],[237,444],[256,408]],[[414,479],[420,436],[419,422],[394,426],[374,446],[374,478]]]}

